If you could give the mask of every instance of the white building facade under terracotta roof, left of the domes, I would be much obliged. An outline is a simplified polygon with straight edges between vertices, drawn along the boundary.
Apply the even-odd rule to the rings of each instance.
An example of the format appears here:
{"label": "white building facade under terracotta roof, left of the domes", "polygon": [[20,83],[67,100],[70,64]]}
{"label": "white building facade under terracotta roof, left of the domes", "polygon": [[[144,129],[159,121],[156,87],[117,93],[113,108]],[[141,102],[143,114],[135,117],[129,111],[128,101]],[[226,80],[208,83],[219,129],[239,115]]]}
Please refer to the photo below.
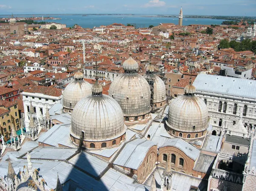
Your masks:
{"label": "white building facade under terracotta roof, left of the domes", "polygon": [[29,127],[29,108],[30,102],[35,108],[35,116],[37,119],[45,117],[47,108],[51,108],[55,103],[61,103],[62,95],[59,97],[49,96],[41,93],[22,92],[22,100],[25,114],[25,127]]}

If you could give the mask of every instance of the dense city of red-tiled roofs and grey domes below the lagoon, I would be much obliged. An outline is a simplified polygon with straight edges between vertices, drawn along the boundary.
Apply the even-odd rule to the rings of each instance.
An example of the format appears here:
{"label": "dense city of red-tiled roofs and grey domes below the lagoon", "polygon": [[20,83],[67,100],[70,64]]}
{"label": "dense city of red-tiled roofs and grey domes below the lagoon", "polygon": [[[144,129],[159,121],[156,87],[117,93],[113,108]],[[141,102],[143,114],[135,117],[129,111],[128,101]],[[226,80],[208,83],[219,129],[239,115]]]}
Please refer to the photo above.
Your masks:
{"label": "dense city of red-tiled roofs and grey domes below the lagoon", "polygon": [[177,14],[1,17],[0,191],[255,191],[255,17]]}

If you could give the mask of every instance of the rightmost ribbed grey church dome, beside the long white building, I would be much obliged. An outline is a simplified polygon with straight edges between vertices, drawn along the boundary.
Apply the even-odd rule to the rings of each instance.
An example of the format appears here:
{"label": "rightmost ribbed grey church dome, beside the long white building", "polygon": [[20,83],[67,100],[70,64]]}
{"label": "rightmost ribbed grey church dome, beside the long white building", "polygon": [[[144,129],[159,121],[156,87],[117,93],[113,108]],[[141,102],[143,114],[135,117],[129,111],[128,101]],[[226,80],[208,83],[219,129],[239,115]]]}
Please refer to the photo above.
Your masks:
{"label": "rightmost ribbed grey church dome, beside the long white building", "polygon": [[169,105],[166,124],[176,131],[201,132],[208,128],[208,110],[203,100],[194,95],[195,87],[186,86],[185,95],[174,99]]}

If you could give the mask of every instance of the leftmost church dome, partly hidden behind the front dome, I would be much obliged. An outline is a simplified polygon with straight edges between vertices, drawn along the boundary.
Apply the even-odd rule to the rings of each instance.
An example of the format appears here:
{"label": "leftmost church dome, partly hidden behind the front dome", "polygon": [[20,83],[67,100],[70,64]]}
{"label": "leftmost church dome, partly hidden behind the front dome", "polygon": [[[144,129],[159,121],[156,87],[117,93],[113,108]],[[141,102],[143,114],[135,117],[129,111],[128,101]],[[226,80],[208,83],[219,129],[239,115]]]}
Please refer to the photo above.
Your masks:
{"label": "leftmost church dome, partly hidden behind the front dome", "polygon": [[63,108],[64,112],[71,112],[82,98],[92,94],[92,86],[87,81],[84,81],[84,75],[81,72],[76,72],[74,75],[75,81],[69,83],[63,91]]}

